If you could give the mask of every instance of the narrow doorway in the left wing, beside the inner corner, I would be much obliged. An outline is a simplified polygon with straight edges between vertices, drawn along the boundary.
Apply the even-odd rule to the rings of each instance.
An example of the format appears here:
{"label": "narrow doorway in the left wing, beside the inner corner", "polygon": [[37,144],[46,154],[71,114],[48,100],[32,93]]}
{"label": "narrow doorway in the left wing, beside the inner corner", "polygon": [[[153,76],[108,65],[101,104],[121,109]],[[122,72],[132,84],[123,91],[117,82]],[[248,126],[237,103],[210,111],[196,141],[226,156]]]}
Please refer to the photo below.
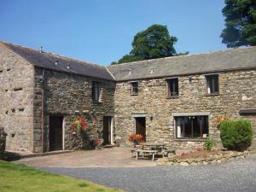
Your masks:
{"label": "narrow doorway in the left wing, beside the inner corner", "polygon": [[103,145],[113,144],[113,124],[111,116],[103,117]]}

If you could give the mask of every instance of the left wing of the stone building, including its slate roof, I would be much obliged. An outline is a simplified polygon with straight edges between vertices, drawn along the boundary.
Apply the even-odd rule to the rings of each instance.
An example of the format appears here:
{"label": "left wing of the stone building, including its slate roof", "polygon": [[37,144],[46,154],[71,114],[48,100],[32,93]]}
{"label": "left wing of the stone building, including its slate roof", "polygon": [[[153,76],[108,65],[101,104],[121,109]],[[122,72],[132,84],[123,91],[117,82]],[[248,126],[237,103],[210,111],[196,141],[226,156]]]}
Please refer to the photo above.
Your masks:
{"label": "left wing of the stone building, including its slate roof", "polygon": [[[0,126],[8,133],[8,149],[90,148],[103,137],[103,127],[111,128],[115,82],[105,67],[0,43],[0,82]],[[77,115],[88,121],[82,136],[70,125]]]}

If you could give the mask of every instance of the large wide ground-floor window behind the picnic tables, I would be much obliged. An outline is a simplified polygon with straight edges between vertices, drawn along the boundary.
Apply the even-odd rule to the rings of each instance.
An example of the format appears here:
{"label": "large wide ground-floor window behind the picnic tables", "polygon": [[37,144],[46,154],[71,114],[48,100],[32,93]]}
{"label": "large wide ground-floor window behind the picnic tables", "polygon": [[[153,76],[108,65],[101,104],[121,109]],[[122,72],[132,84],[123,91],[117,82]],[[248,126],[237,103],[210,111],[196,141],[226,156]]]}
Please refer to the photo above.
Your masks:
{"label": "large wide ground-floor window behind the picnic tables", "polygon": [[177,138],[205,138],[208,134],[208,116],[176,117]]}

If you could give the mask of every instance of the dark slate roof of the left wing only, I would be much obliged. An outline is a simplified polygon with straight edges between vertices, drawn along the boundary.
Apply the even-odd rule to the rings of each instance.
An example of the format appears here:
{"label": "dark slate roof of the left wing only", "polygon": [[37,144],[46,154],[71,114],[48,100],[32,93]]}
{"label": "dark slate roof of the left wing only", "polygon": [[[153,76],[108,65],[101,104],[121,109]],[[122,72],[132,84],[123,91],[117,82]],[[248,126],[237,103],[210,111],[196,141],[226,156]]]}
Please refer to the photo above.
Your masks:
{"label": "dark slate roof of the left wing only", "polygon": [[[1,43],[36,67],[44,67],[67,73],[75,73],[98,79],[114,80],[113,76],[108,72],[106,67],[47,52],[41,53],[39,50],[29,49],[20,45],[8,44],[5,42]],[[55,65],[55,61],[58,61],[58,65]],[[68,65],[70,66],[69,69],[67,68]]]}

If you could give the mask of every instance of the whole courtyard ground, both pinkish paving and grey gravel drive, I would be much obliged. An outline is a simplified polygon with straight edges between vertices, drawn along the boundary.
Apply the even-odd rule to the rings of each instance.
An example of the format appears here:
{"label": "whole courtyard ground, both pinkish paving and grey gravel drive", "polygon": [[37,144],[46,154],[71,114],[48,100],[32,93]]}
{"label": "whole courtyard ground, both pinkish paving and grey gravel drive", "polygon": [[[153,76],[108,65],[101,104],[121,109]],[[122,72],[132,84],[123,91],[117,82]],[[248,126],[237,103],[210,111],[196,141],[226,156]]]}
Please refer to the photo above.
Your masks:
{"label": "whole courtyard ground, both pinkish paving and grey gravel drive", "polygon": [[256,156],[207,166],[156,166],[131,159],[131,148],[75,151],[15,161],[129,192],[256,191]]}

